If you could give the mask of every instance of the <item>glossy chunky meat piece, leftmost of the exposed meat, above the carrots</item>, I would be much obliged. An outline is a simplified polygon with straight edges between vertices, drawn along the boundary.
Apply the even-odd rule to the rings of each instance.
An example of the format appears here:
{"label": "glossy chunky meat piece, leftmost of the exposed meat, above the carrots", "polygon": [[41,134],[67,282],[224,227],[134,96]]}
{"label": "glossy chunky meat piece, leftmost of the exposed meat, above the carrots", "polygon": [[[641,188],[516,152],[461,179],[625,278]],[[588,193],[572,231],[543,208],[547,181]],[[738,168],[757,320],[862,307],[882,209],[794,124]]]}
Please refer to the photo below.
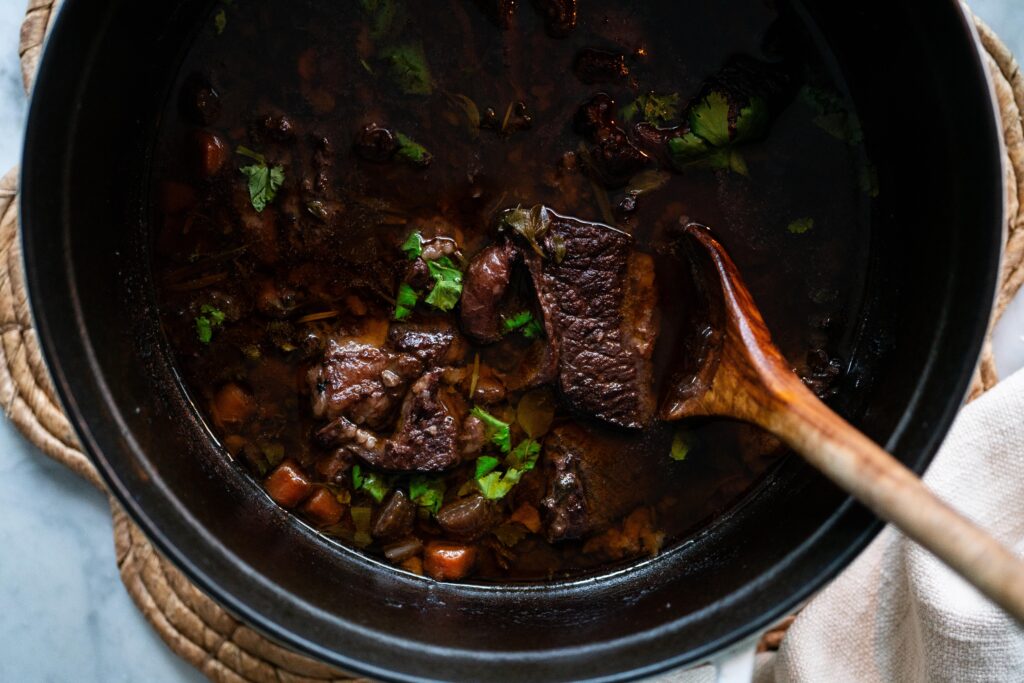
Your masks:
{"label": "glossy chunky meat piece, leftmost of the exposed meat, above the carrots", "polygon": [[383,429],[423,365],[415,356],[354,341],[328,342],[323,360],[309,371],[313,415],[344,417],[355,425]]}

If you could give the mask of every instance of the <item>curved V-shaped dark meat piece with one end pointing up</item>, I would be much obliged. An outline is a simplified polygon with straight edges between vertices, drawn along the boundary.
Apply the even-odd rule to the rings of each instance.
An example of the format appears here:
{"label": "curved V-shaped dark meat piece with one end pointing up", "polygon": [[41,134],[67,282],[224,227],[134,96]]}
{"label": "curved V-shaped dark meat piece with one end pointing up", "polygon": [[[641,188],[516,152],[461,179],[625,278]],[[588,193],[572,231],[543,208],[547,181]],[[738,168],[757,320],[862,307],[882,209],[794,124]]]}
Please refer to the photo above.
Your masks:
{"label": "curved V-shaped dark meat piece with one end pointing up", "polygon": [[398,472],[438,472],[462,461],[461,415],[451,405],[457,400],[443,394],[443,370],[432,370],[413,384],[401,407],[398,427],[391,438],[382,438],[339,417],[316,433],[324,446],[347,446],[367,464]]}

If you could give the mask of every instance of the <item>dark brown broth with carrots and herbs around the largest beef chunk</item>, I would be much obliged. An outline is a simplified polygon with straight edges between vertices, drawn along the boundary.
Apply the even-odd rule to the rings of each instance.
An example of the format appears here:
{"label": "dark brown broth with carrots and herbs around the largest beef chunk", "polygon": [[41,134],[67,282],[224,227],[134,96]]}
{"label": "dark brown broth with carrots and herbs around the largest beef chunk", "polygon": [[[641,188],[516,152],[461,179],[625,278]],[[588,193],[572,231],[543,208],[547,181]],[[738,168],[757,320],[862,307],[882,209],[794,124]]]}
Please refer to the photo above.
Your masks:
{"label": "dark brown broth with carrots and herbs around the largest beef chunk", "polygon": [[[522,0],[503,14],[512,4],[216,3],[157,143],[163,325],[225,457],[326,536],[440,579],[550,579],[655,554],[735,504],[783,452],[723,421],[617,428],[570,410],[554,381],[519,386],[550,342],[521,266],[512,288],[526,304],[507,312],[532,321],[528,334],[506,317],[500,341],[465,339],[459,306],[425,300],[440,282],[431,273],[396,322],[401,286],[416,283],[410,236],[422,237],[421,258],[442,247],[435,263],[464,271],[508,239],[502,215],[517,207],[631,233],[655,265],[656,390],[689,310],[671,248],[681,222],[713,227],[821,395],[850,360],[864,287],[870,167],[828,61],[784,3],[581,0],[574,26],[573,3]],[[578,112],[599,93],[613,100],[601,100],[606,127],[588,129]],[[639,166],[614,140],[601,146],[609,131],[642,152]],[[669,140],[694,131],[700,150],[673,157]],[[455,331],[442,361],[394,347],[408,325]],[[326,368],[332,348],[348,351]],[[390,370],[370,358],[377,348]],[[362,384],[339,414],[387,441],[433,366],[431,395],[461,430],[458,464],[385,470],[360,456],[362,436],[324,437],[337,415],[317,400],[351,381]],[[604,454],[583,476],[586,532],[551,529],[564,474],[555,440],[583,460]]]}

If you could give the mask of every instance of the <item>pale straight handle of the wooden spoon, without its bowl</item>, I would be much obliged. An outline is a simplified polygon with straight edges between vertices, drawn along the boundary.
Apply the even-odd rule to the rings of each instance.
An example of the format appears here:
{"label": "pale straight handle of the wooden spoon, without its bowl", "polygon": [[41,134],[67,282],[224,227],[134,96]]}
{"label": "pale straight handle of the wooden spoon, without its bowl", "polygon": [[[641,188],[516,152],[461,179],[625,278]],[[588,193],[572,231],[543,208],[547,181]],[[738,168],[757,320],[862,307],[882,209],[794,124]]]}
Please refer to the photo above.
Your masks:
{"label": "pale straight handle of the wooden spoon, without its bowl", "polygon": [[828,478],[1024,626],[1024,561],[939,500],[902,463],[810,391],[763,421]]}

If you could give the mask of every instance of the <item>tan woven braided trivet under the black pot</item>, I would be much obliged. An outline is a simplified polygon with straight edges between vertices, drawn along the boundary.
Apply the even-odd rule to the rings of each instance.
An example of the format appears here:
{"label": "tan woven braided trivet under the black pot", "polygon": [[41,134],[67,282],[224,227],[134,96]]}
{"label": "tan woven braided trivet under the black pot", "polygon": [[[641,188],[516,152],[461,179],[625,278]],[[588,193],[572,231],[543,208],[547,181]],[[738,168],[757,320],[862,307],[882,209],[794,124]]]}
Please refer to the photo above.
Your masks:
{"label": "tan woven braided trivet under the black pot", "polygon": [[[26,87],[36,72],[43,40],[60,0],[30,0],[22,26],[22,72]],[[1024,76],[998,37],[977,20],[995,84],[1010,163],[1007,164],[1009,232],[997,321],[1024,284]],[[103,490],[57,403],[39,352],[26,301],[17,238],[17,174],[0,179],[0,401],[10,420],[46,455]],[[978,369],[972,397],[998,381],[990,341]],[[351,681],[349,676],[270,642],[230,616],[164,559],[111,499],[114,542],[121,579],[132,600],[164,642],[218,683],[313,683]],[[777,649],[792,624],[787,618],[765,635],[762,650]]]}

